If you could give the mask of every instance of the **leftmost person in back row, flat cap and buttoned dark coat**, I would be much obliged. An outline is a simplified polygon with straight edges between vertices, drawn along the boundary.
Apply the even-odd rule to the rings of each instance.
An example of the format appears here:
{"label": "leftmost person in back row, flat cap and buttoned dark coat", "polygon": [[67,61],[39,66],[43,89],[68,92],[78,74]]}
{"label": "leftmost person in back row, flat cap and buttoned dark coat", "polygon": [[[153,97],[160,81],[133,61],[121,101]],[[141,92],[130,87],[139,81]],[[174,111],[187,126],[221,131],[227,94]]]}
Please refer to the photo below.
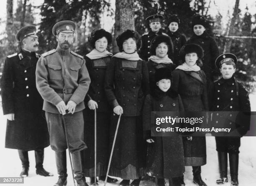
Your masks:
{"label": "leftmost person in back row, flat cap and buttoned dark coat", "polygon": [[146,21],[149,23],[149,32],[148,34],[142,35],[141,37],[141,49],[139,51],[140,58],[148,61],[150,54],[150,43],[157,35],[167,35],[161,30],[161,20],[164,17],[162,15],[156,14],[151,15],[146,18]]}

